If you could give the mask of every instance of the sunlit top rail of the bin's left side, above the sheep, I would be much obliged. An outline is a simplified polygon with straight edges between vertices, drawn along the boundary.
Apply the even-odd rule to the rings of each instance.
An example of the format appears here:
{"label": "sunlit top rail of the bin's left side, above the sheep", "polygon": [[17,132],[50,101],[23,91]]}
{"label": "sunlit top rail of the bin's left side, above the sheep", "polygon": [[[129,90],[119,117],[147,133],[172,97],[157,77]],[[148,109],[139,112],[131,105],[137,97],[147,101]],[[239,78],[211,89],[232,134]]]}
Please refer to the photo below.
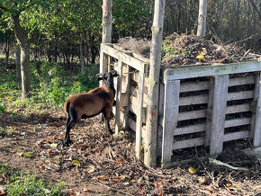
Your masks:
{"label": "sunlit top rail of the bin's left side, above the sheep", "polygon": [[[119,49],[113,49],[108,44],[101,44],[101,50],[106,53],[107,55],[110,55],[113,58],[117,58],[121,62],[130,65],[131,67],[134,67],[137,70],[144,70],[146,68],[148,63],[145,63],[138,58],[130,57],[130,55],[124,54],[124,51],[121,51]],[[123,54],[123,55],[122,55]]]}

